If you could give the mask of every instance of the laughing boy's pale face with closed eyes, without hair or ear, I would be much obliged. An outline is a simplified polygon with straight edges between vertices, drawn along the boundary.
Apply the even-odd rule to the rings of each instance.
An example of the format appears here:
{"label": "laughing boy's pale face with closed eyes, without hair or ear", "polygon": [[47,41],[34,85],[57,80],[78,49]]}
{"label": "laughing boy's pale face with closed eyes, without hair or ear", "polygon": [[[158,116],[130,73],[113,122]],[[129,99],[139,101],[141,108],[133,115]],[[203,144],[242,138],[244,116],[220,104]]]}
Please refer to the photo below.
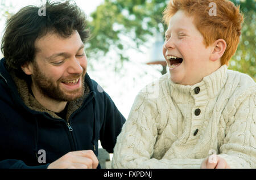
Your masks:
{"label": "laughing boy's pale face with closed eyes, without hair or ear", "polygon": [[[210,51],[210,46],[205,47],[204,37],[195,27],[193,17],[187,16],[184,11],[177,11],[170,19],[163,45],[163,55],[169,66],[172,82],[193,85],[214,72],[214,66],[209,61]],[[176,63],[176,66],[170,66],[172,59],[167,59],[167,55],[175,55],[183,60]]]}

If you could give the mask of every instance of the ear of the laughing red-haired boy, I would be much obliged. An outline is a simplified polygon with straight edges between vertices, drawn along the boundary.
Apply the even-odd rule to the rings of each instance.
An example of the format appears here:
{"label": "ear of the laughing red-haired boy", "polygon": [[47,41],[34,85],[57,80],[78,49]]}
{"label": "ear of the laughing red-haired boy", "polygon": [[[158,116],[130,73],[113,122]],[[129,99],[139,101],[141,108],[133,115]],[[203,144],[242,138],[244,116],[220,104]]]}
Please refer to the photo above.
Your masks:
{"label": "ear of the laughing red-haired boy", "polygon": [[217,61],[222,57],[226,50],[226,41],[221,39],[216,40],[212,45],[212,53],[210,54],[211,61]]}

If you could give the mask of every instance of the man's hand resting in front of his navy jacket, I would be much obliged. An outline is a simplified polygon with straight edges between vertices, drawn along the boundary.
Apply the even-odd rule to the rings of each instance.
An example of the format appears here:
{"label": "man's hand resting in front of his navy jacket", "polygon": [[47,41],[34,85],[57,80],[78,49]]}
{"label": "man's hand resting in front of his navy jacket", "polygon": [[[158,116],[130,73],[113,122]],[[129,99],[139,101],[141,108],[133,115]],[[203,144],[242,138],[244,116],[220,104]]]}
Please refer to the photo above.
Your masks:
{"label": "man's hand resting in front of his navy jacket", "polygon": [[73,151],[49,164],[48,169],[96,169],[98,159],[92,150]]}

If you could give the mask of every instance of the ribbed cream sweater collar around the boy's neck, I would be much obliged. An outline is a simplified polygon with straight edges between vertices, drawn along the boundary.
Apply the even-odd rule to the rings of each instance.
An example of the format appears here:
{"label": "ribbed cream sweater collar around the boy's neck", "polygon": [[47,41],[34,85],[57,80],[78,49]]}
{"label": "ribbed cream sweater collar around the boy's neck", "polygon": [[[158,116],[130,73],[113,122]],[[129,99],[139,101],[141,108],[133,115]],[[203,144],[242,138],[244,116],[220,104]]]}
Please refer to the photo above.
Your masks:
{"label": "ribbed cream sweater collar around the boy's neck", "polygon": [[[227,69],[228,69],[228,66],[222,65],[216,71],[212,72],[212,74],[205,76],[203,80],[201,80],[201,82],[196,83],[194,85],[182,85],[182,84],[174,83],[171,81],[170,74],[169,74],[168,79],[172,89],[171,91],[172,98],[176,100],[177,98],[180,99],[180,97],[183,97],[184,99],[188,100],[191,97],[205,99],[205,98],[213,98],[217,96],[220,93],[221,89],[224,87],[224,84],[226,83]],[[196,87],[200,88],[200,92],[198,94],[195,93]],[[179,101],[183,101],[183,100],[180,99]]]}

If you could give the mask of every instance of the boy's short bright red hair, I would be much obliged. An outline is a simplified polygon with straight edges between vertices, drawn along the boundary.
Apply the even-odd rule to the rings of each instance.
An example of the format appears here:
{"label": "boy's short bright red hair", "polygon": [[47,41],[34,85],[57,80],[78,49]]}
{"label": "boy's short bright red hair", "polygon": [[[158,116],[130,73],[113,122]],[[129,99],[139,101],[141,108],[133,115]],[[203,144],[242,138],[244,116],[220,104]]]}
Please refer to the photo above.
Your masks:
{"label": "boy's short bright red hair", "polygon": [[[216,4],[216,16],[209,15],[211,2]],[[221,65],[228,65],[240,41],[243,23],[240,6],[237,7],[228,0],[171,0],[163,12],[166,24],[178,10],[183,10],[188,16],[194,17],[194,24],[203,35],[206,46],[220,38],[226,41]]]}

